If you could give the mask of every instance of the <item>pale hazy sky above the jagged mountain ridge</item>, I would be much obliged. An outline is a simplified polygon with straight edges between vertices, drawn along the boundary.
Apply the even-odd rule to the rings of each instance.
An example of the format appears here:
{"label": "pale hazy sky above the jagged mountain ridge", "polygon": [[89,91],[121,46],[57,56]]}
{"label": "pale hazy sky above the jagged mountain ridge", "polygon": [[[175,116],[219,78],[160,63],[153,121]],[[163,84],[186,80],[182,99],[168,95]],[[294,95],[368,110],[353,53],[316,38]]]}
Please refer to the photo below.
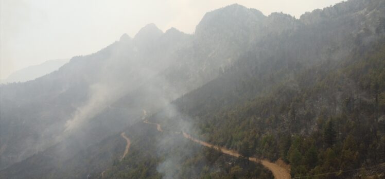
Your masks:
{"label": "pale hazy sky above the jagged mountain ridge", "polygon": [[299,17],[341,0],[1,0],[0,79],[47,60],[88,55],[155,23],[193,33],[205,12],[230,4]]}

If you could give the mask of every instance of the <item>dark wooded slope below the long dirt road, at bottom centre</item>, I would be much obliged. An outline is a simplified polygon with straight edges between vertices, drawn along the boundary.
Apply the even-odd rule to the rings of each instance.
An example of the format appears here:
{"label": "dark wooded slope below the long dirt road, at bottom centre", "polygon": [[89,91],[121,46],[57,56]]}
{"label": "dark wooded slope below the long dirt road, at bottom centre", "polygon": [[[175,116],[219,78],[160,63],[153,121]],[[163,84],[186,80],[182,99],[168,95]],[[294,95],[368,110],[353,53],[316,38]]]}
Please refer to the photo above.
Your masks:
{"label": "dark wooded slope below the long dirt road, at bottom centre", "polygon": [[[260,164],[202,147],[181,135],[160,133],[149,124],[137,123],[126,133],[131,139],[129,153],[121,162],[115,160],[103,178],[273,178]],[[99,173],[94,176],[101,178]]]}

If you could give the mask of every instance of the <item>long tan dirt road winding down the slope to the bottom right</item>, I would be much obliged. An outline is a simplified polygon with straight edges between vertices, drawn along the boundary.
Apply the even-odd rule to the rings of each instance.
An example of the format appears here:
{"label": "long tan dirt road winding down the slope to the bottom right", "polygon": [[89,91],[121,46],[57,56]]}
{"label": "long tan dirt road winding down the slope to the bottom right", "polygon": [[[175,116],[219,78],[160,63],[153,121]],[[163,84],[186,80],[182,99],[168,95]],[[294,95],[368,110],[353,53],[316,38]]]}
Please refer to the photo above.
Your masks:
{"label": "long tan dirt road winding down the slope to the bottom right", "polygon": [[[164,132],[162,130],[162,127],[159,123],[153,123],[153,122],[149,122],[147,119],[143,121],[144,123],[148,123],[148,124],[153,124],[153,125],[156,125],[156,130],[158,130],[159,132]],[[170,132],[170,133],[174,133],[174,134],[180,134],[179,132]],[[183,132],[183,136],[191,141],[194,141],[194,142],[197,142],[198,144],[202,145],[202,146],[205,146],[205,147],[213,147],[219,151],[221,151],[222,153],[224,154],[228,154],[228,155],[231,155],[231,156],[235,156],[235,157],[239,157],[240,154],[233,151],[233,150],[229,150],[229,149],[226,149],[226,148],[223,148],[223,147],[219,147],[219,146],[215,146],[215,145],[212,145],[212,144],[209,144],[205,141],[202,141],[202,140],[198,140],[194,137],[191,137],[189,134]],[[290,173],[287,169],[277,165],[277,164],[274,164],[274,163],[271,163],[269,162],[268,160],[263,160],[263,159],[258,159],[258,158],[255,158],[255,157],[249,157],[249,160],[252,161],[252,162],[260,162],[263,166],[265,166],[267,169],[269,169],[273,175],[274,175],[274,178],[277,178],[277,179],[289,179],[291,178],[290,176]]]}

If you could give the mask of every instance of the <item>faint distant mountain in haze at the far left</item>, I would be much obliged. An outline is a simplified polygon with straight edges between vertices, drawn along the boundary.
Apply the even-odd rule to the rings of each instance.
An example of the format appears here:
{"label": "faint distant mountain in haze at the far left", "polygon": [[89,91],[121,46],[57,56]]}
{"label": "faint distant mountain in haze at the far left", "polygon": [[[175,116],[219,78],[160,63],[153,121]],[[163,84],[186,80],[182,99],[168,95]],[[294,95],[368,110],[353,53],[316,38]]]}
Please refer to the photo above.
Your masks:
{"label": "faint distant mountain in haze at the far left", "polygon": [[62,65],[67,63],[68,60],[49,60],[39,65],[28,66],[23,69],[17,70],[6,79],[2,80],[2,83],[14,83],[14,82],[25,82],[34,80],[43,75],[49,74],[52,71],[59,69]]}

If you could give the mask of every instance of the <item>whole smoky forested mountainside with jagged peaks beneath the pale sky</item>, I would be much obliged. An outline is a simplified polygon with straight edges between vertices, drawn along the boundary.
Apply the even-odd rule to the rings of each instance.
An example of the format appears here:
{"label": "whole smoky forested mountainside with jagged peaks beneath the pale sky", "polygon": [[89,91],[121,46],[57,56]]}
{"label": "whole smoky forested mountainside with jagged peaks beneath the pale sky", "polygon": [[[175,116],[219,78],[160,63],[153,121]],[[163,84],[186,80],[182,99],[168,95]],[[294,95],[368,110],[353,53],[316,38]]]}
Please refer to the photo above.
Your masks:
{"label": "whole smoky forested mountainside with jagged peaks beneath the pale sky", "polygon": [[230,5],[194,34],[149,24],[0,86],[0,176],[272,178],[271,161],[383,177],[384,20],[383,1],[350,0],[300,19]]}

